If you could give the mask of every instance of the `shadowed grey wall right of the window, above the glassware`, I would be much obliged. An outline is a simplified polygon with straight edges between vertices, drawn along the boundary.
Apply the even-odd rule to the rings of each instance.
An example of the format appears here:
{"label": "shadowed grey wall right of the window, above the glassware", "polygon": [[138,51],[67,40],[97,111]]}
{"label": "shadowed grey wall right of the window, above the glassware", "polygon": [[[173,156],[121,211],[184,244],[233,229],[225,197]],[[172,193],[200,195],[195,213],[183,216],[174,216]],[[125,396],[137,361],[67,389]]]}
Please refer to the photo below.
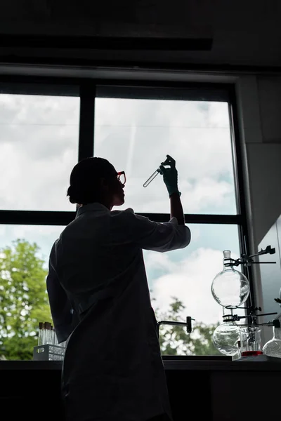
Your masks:
{"label": "shadowed grey wall right of the window, above the glassware", "polygon": [[256,250],[281,214],[281,76],[242,76],[237,95]]}

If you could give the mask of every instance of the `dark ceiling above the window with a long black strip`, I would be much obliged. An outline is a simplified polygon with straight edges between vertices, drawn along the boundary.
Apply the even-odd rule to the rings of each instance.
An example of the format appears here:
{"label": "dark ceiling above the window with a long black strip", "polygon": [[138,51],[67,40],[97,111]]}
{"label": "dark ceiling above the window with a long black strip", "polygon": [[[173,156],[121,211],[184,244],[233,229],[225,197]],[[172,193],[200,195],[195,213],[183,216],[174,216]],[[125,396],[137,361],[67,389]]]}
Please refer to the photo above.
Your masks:
{"label": "dark ceiling above the window with a long black strip", "polygon": [[[9,0],[1,5],[0,62],[278,69],[280,17],[280,0]],[[35,37],[37,45],[23,35]],[[69,37],[64,44],[56,42],[61,36]],[[163,44],[157,50],[151,49],[152,41],[141,49],[120,50],[96,46],[81,36],[157,37]],[[182,41],[176,51],[179,38],[211,39],[211,49],[192,51]]]}

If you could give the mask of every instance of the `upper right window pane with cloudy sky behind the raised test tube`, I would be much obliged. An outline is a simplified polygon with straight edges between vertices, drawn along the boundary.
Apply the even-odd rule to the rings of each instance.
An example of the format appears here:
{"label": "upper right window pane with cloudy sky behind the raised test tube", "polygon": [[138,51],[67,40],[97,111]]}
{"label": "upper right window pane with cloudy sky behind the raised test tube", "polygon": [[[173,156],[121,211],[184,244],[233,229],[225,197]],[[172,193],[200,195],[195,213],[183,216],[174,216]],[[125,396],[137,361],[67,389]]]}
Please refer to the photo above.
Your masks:
{"label": "upper right window pane with cloudy sky behind the raised test tube", "polygon": [[158,175],[176,159],[185,213],[235,214],[235,185],[227,102],[96,98],[95,156],[126,172],[126,203],[136,212],[169,213]]}

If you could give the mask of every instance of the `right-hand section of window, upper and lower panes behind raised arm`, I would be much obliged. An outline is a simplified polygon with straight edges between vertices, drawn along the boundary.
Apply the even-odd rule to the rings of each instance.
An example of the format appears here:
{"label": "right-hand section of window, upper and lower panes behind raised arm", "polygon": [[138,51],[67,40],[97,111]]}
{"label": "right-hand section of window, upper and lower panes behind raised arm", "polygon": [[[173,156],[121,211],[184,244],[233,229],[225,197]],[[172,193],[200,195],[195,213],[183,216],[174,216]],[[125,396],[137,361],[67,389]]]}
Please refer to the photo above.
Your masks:
{"label": "right-hand section of window, upper and lower panes behind raised arm", "polygon": [[[146,188],[143,183],[166,154],[176,159],[192,241],[187,248],[169,253],[144,251],[157,319],[192,316],[195,325],[213,329],[222,321],[211,281],[222,270],[223,250],[240,257],[242,234],[230,107],[226,92],[220,96],[218,91],[200,95],[184,88],[97,87],[94,154],[106,156],[117,171],[125,171],[122,208],[131,207],[159,222],[169,220],[161,175]],[[181,313],[171,312],[175,300],[184,306]],[[178,327],[162,326],[160,333],[168,338],[175,330]],[[181,344],[173,335],[171,342],[181,354]],[[171,349],[165,345],[162,351],[169,354]],[[188,352],[192,354],[192,347]],[[202,338],[204,352],[208,351]]]}

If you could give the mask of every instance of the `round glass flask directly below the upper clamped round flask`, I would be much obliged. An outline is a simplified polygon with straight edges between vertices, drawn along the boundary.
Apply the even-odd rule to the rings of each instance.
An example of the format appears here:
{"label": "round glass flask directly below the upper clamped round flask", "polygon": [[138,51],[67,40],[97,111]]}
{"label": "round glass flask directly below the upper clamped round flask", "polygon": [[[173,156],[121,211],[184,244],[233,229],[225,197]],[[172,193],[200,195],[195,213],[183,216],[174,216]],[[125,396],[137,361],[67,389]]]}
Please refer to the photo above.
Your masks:
{"label": "round glass flask directly below the upper clamped round flask", "polygon": [[[223,312],[230,310],[223,309]],[[238,354],[238,341],[240,340],[240,328],[234,321],[230,321],[232,314],[223,316],[223,323],[219,325],[213,333],[212,340],[216,349],[221,354],[235,356]]]}

